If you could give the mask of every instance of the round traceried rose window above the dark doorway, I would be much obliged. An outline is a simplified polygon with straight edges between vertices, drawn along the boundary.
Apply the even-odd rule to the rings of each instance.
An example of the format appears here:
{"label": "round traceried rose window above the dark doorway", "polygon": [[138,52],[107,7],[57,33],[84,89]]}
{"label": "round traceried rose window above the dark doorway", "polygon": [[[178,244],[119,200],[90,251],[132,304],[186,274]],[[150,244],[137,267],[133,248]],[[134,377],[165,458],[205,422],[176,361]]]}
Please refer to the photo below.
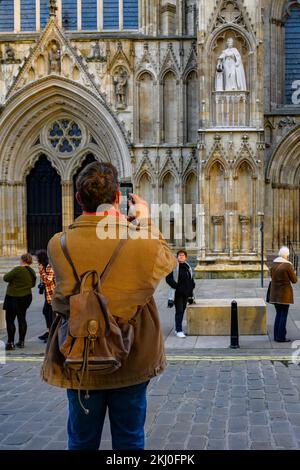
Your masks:
{"label": "round traceried rose window above the dark doorway", "polygon": [[82,132],[76,122],[62,119],[52,124],[48,139],[59,152],[71,153],[81,144]]}

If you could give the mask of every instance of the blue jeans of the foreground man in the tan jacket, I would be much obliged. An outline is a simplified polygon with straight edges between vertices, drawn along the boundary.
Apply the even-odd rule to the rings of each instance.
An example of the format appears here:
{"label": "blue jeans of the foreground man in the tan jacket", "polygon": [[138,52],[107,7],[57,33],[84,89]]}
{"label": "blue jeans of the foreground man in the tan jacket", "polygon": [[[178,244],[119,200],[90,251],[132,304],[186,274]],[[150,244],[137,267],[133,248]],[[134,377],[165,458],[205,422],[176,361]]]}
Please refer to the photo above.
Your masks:
{"label": "blue jeans of the foreground man in the tan jacket", "polygon": [[143,450],[145,443],[146,391],[148,382],[130,387],[92,390],[89,398],[77,390],[67,390],[69,400],[68,436],[70,450],[99,449],[108,408],[113,450]]}

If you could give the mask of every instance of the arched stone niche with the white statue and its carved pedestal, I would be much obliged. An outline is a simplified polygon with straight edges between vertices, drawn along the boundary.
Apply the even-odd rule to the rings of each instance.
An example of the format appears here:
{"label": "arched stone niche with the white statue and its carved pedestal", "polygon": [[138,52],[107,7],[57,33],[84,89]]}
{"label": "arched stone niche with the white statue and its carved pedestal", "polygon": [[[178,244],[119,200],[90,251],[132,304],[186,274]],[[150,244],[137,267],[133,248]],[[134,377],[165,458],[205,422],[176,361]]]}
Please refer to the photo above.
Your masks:
{"label": "arched stone niche with the white statue and its carved pedestal", "polygon": [[211,64],[214,125],[249,125],[249,54],[245,39],[229,29],[219,35]]}

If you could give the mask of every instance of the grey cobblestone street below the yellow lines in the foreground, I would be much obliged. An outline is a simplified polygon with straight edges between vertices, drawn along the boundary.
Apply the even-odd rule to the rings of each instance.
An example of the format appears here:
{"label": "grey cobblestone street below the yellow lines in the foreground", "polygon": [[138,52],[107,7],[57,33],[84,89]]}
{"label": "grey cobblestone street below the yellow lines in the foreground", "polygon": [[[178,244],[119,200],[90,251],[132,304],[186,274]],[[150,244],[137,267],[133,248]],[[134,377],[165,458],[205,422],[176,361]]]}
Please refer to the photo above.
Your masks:
{"label": "grey cobblestone street below the yellow lines in the foreground", "polygon": [[[66,449],[65,391],[39,370],[26,359],[0,367],[0,450]],[[299,391],[294,364],[170,360],[149,387],[146,448],[299,449]],[[110,448],[106,422],[101,449]]]}

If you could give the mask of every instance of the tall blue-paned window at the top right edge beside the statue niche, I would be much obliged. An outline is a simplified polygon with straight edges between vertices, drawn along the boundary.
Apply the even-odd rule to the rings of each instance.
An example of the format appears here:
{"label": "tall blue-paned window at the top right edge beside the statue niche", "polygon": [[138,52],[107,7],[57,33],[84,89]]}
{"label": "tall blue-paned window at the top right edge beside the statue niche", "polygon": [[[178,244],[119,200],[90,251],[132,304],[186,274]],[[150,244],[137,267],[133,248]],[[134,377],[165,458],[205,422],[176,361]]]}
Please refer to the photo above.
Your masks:
{"label": "tall blue-paned window at the top right edge beside the statue niche", "polygon": [[289,2],[285,23],[285,102],[300,104],[300,4]]}

